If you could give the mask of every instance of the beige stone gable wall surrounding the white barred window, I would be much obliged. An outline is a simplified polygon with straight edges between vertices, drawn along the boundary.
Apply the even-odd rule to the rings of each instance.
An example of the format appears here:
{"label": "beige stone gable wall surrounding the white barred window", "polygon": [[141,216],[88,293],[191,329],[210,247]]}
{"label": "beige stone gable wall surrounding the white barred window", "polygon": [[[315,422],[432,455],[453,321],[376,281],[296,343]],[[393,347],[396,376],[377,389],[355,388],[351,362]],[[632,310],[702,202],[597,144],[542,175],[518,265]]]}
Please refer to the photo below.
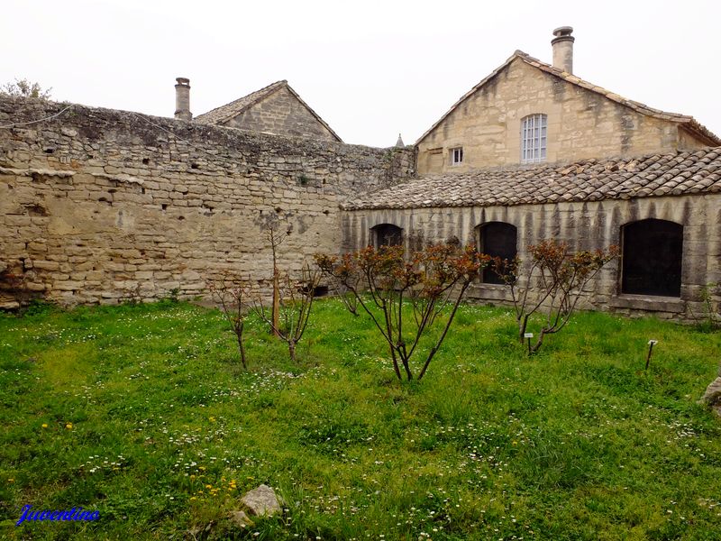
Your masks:
{"label": "beige stone gable wall surrounding the white barred window", "polygon": [[[551,163],[692,150],[708,144],[681,133],[677,123],[642,115],[516,59],[418,144],[418,173],[519,164],[521,121],[539,113],[547,115],[546,161]],[[463,147],[461,165],[451,164],[450,151],[455,147]]]}

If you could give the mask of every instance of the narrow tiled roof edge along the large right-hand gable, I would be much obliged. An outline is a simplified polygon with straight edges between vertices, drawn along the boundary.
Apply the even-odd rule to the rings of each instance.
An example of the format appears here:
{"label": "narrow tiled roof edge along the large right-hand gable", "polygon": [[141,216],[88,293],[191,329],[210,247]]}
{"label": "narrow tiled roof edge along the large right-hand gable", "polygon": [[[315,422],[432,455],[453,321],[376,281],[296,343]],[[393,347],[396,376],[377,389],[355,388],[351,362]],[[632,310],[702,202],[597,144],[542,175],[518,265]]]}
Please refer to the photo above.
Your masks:
{"label": "narrow tiled roof edge along the large right-hand gable", "polygon": [[545,62],[542,62],[541,60],[534,59],[534,57],[526,54],[523,50],[516,50],[516,52],[511,55],[511,57],[506,60],[501,66],[499,66],[497,69],[494,69],[493,72],[488,75],[487,78],[484,78],[482,81],[479,82],[478,85],[475,87],[472,87],[470,91],[468,91],[466,94],[461,96],[461,99],[459,99],[452,107],[451,109],[446,112],[445,115],[443,115],[438,122],[436,122],[433,126],[431,126],[428,131],[426,131],[423,135],[418,138],[418,141],[415,142],[415,144],[418,144],[422,142],[425,139],[425,136],[429,133],[433,132],[435,127],[438,124],[441,124],[443,120],[448,116],[451,115],[451,113],[459,106],[461,103],[463,103],[468,97],[470,97],[472,94],[474,94],[477,90],[479,90],[480,87],[483,87],[490,79],[497,76],[498,73],[503,71],[507,68],[507,66],[513,61],[513,60],[521,60],[528,64],[529,66],[533,66],[534,68],[541,69],[545,73],[549,73],[554,77],[561,78],[564,81],[570,83],[571,85],[575,85],[577,87],[586,88],[587,90],[590,90],[591,92],[595,92],[596,94],[600,94],[601,96],[605,96],[611,101],[615,101],[618,104],[625,105],[626,107],[630,107],[631,109],[634,109],[634,111],[641,113],[642,115],[649,115],[653,116],[655,118],[661,118],[662,120],[668,120],[671,122],[677,122],[679,124],[682,124],[689,132],[694,133],[697,135],[700,139],[705,140],[710,145],[721,145],[721,138],[716,136],[714,133],[711,133],[705,126],[698,124],[698,122],[692,117],[688,115],[679,115],[678,113],[667,113],[665,111],[661,111],[660,109],[654,109],[653,107],[649,107],[648,105],[643,105],[642,103],[636,102],[631,99],[626,99],[623,96],[618,96],[614,92],[610,92],[606,88],[598,87],[598,85],[594,85],[593,83],[589,83],[588,81],[583,80],[582,78],[578,78],[575,75],[571,75],[570,73],[563,71],[558,68],[553,68],[551,65],[546,64]]}

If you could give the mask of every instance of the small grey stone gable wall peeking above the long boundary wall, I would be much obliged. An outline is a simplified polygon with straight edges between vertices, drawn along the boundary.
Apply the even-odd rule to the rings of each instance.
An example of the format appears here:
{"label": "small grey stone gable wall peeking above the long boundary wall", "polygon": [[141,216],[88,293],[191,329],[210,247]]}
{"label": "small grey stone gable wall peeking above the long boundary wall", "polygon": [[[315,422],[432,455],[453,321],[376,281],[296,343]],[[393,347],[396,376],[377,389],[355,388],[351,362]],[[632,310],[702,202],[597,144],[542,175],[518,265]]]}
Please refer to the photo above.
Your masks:
{"label": "small grey stone gable wall peeking above the long boundary wall", "polygon": [[286,86],[231,119],[227,125],[255,132],[278,133],[336,141],[331,133]]}

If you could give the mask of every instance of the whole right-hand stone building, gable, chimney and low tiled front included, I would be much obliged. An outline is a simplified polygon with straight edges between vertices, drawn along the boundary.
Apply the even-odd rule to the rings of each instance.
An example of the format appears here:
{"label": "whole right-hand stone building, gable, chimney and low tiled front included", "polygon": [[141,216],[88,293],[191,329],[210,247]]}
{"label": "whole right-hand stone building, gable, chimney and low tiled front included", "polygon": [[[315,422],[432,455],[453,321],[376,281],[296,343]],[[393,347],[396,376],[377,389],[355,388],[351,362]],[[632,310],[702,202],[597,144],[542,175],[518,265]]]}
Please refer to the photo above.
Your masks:
{"label": "whole right-hand stone building, gable, chimney and low tiled front included", "polygon": [[[553,66],[516,51],[462,96],[416,142],[417,178],[346,202],[343,248],[423,234],[528,261],[550,238],[616,244],[587,307],[698,314],[721,281],[721,140],[574,76],[571,32],[553,32]],[[470,295],[510,300],[488,271]]]}

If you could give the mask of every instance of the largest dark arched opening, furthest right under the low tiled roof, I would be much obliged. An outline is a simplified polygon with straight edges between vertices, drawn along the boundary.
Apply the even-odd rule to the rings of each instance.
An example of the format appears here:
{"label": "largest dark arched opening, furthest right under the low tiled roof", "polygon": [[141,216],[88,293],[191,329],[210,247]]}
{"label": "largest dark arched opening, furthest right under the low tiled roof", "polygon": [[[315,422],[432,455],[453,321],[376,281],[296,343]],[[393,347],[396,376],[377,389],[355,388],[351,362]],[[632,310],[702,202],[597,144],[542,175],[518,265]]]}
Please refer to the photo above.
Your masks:
{"label": "largest dark arched opening, furthest right under the low tiled roof", "polygon": [[627,224],[623,243],[623,293],[680,297],[683,225],[655,219]]}

